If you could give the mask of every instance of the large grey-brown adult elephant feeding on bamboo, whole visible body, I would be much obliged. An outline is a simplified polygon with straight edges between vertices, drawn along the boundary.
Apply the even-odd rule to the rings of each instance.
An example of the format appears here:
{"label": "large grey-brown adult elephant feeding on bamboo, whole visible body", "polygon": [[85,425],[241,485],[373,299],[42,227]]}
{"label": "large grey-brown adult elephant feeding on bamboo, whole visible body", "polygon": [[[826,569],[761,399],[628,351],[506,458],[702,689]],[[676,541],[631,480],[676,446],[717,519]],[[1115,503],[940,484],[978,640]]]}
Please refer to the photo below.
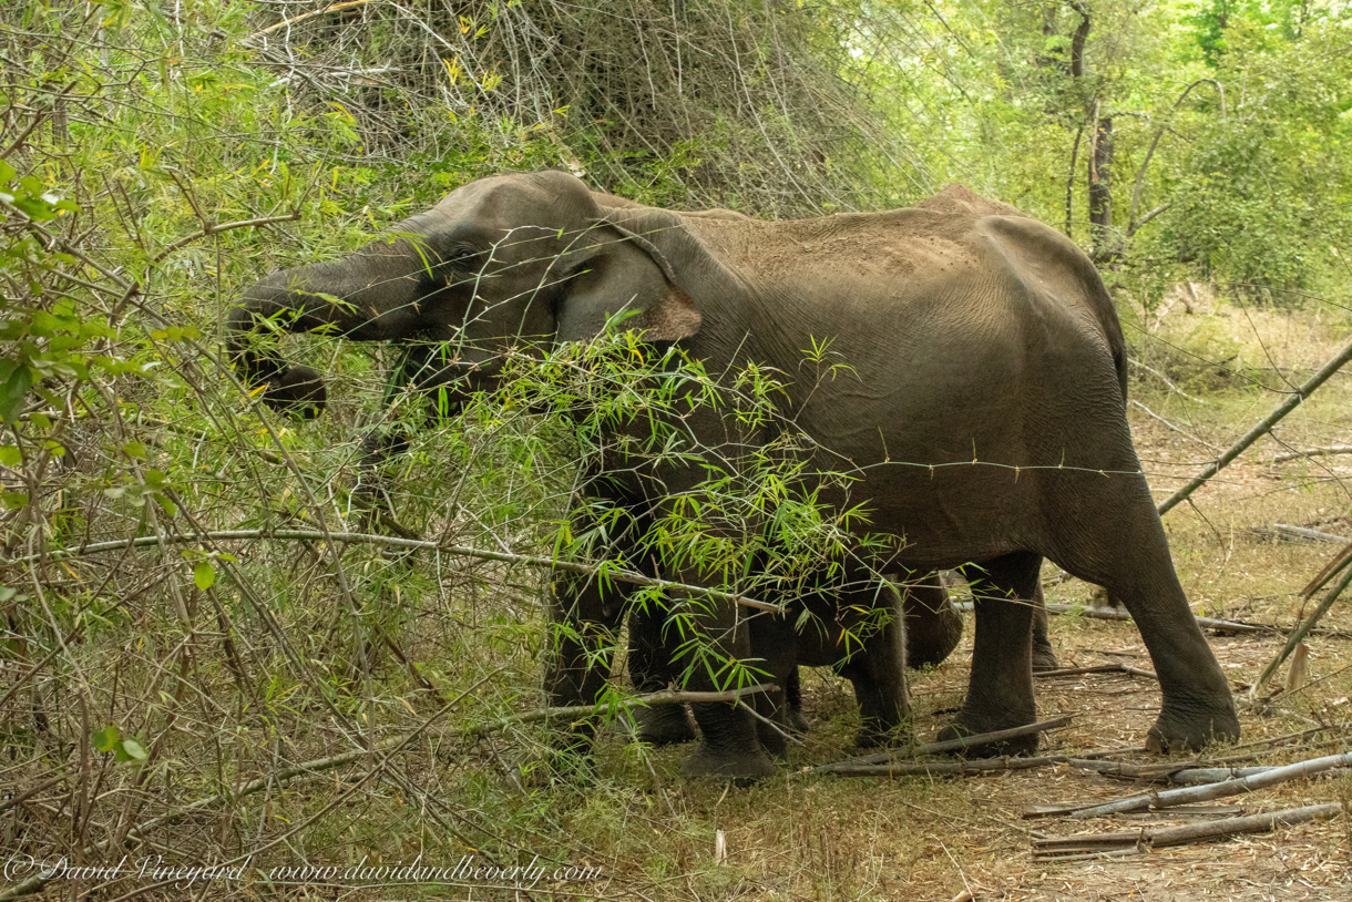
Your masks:
{"label": "large grey-brown adult elephant feeding on bamboo, whole visible body", "polygon": [[[904,540],[879,572],[980,568],[967,699],[941,736],[1036,719],[1029,602],[1044,557],[1107,588],[1141,630],[1163,696],[1151,748],[1238,736],[1229,686],[1188,611],[1132,448],[1117,315],[1094,266],[1052,229],[957,187],[913,210],[773,223],[607,207],[572,176],[538,173],[466,184],[396,233],[423,235],[422,253],[396,238],[277,273],[245,292],[231,329],[299,311],[293,330],[454,341],[458,360],[427,381],[462,392],[491,387],[507,348],[585,339],[610,316],[638,311],[626,326],[658,345],[683,342],[710,373],[746,361],[777,368],[783,417],[817,441],[811,462],[860,468],[856,481],[822,487],[819,499],[864,503],[871,534]],[[830,361],[849,369],[829,379],[804,362],[814,339],[830,341]],[[234,352],[268,381],[269,400],[320,396],[314,371],[238,343]],[[681,425],[704,448],[769,438],[706,407]],[[606,476],[595,491],[645,517],[696,485],[703,468],[621,465]],[[684,583],[718,579],[679,563],[661,569]],[[596,698],[608,663],[588,646],[614,633],[623,594],[556,580],[554,617],[576,633],[556,642],[546,665],[553,703]],[[873,600],[834,599],[838,611],[856,603]],[[729,604],[703,627],[745,659],[752,623]],[[865,642],[868,657],[900,657],[886,648],[896,632]],[[882,728],[909,714],[904,673],[887,669],[896,672],[873,687]],[[714,688],[702,679],[690,688]],[[685,774],[772,772],[749,714],[719,703],[694,710],[702,737]],[[1005,751],[1036,744],[1014,740]]]}

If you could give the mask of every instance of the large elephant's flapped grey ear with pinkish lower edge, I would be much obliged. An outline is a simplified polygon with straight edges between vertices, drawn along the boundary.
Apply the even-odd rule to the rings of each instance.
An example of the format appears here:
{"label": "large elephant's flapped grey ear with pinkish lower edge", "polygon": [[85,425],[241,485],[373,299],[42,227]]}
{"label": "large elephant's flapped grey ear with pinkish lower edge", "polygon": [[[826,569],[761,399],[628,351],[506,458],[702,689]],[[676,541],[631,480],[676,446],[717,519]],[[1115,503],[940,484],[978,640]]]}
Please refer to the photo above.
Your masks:
{"label": "large elephant's flapped grey ear with pinkish lower edge", "polygon": [[[661,229],[680,227],[675,215],[665,215],[672,222],[662,222]],[[680,341],[699,331],[699,308],[677,283],[667,256],[630,224],[592,220],[589,246],[569,266],[576,275],[557,311],[560,341],[592,338],[625,314],[630,314],[623,321],[626,329],[654,342]]]}

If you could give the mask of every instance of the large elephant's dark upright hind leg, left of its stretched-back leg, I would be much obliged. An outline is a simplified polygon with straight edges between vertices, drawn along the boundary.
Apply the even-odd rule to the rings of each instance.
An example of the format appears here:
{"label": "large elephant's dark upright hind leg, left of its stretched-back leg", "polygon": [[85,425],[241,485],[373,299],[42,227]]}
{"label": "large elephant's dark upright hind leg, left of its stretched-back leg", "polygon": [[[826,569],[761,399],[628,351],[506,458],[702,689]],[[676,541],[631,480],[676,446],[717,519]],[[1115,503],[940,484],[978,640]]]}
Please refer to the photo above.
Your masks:
{"label": "large elephant's dark upright hind leg, left of its stretched-back leg", "polygon": [[[1042,557],[1005,554],[964,568],[976,599],[976,646],[963,710],[940,740],[992,733],[1037,721],[1033,699],[1032,626]],[[1018,755],[1037,749],[1037,736],[969,748],[973,756]]]}

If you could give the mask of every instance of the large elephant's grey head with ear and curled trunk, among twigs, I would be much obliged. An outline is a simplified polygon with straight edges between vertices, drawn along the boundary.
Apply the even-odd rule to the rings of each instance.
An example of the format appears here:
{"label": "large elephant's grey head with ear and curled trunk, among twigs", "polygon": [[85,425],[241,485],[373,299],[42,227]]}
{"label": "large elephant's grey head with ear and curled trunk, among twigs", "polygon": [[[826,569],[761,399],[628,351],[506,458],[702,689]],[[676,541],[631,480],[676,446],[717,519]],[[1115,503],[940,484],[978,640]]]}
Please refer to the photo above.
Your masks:
{"label": "large elephant's grey head with ear and curled trunk, among twigs", "polygon": [[251,346],[262,321],[356,341],[448,342],[420,381],[461,392],[489,385],[511,348],[591,338],[621,314],[650,341],[694,335],[688,273],[710,268],[690,264],[707,254],[679,215],[606,197],[561,172],[462,185],[388,239],[247,288],[230,312],[230,356],[265,384],[266,403],[314,415],[326,399],[320,375]]}

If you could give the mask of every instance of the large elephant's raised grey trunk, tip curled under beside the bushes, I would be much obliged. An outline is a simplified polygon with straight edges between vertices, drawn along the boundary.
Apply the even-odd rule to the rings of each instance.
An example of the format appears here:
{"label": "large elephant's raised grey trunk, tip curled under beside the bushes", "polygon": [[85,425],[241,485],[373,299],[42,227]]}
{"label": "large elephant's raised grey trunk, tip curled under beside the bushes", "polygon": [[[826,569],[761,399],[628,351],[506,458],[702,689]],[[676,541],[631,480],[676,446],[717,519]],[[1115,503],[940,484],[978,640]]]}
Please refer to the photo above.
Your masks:
{"label": "large elephant's raised grey trunk, tip curled under beside the bushes", "polygon": [[331,262],[276,272],[246,288],[230,311],[226,352],[247,383],[264,383],[270,407],[314,417],[323,410],[323,377],[291,365],[250,339],[264,321],[289,333],[330,331],[354,341],[407,338],[418,330],[418,300],[435,261],[407,238],[373,242]]}

